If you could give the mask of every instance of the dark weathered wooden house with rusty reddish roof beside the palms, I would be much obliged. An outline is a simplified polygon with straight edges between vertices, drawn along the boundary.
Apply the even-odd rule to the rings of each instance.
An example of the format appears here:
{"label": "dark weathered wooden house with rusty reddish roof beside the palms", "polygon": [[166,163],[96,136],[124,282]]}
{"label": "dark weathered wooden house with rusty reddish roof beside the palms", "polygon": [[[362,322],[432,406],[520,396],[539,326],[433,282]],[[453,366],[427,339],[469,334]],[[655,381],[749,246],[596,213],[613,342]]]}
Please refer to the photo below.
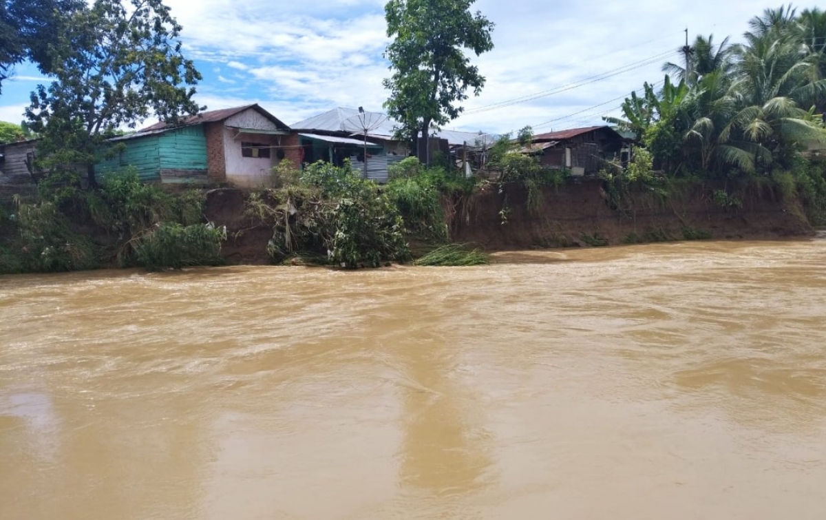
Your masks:
{"label": "dark weathered wooden house with rusty reddish roof beside the palms", "polygon": [[601,160],[619,157],[625,139],[610,126],[588,126],[534,136],[530,152],[546,168],[571,169],[574,175],[596,174]]}

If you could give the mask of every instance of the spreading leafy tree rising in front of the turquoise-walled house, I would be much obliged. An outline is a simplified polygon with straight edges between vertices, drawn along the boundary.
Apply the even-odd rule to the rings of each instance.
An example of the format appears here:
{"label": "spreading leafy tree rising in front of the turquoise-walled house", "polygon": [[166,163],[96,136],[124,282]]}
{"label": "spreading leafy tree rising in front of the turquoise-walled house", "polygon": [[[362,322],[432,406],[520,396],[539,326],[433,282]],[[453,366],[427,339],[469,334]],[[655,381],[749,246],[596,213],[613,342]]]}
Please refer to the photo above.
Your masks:
{"label": "spreading leafy tree rising in front of the turquoise-walled house", "polygon": [[108,137],[152,115],[174,122],[199,110],[192,85],[201,74],[181,53],[169,7],[125,2],[95,0],[69,17],[50,48],[55,80],[26,109],[40,134],[40,164],[64,172],[82,165],[92,186]]}

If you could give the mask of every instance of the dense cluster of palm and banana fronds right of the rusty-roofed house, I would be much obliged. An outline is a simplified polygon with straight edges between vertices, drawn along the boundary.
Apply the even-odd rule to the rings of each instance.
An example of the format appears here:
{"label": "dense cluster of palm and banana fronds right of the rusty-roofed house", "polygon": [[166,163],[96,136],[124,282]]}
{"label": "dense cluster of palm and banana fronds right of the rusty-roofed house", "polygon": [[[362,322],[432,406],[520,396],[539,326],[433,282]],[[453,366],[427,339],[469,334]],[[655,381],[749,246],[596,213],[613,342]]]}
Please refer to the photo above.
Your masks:
{"label": "dense cluster of palm and banana fronds right of the rusty-roofed house", "polygon": [[789,168],[798,150],[826,142],[826,15],[815,8],[767,9],[749,21],[745,43],[720,45],[698,36],[686,50],[688,69],[663,69],[659,93],[646,83],[632,94],[624,118],[606,118],[637,132],[654,164],[670,173],[731,176]]}

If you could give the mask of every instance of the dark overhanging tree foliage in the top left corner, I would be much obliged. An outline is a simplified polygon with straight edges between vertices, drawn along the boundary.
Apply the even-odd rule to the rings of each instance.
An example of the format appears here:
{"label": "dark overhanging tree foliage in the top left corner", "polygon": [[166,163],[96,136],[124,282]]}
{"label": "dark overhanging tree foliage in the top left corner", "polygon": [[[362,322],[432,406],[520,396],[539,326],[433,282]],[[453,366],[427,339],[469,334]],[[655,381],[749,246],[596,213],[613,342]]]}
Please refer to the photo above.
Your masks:
{"label": "dark overhanging tree foliage in the top left corner", "polygon": [[84,5],[84,0],[0,0],[0,92],[14,65],[24,60],[50,74],[49,47],[64,20]]}

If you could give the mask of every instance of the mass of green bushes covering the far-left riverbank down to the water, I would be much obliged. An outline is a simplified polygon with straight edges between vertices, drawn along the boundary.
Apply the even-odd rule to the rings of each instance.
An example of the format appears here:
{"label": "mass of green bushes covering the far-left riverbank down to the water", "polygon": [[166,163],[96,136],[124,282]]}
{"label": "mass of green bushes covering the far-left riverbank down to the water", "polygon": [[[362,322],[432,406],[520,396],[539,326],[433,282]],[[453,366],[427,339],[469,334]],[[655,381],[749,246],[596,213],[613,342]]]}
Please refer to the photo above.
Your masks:
{"label": "mass of green bushes covering the far-left riverbank down to the water", "polygon": [[214,244],[224,231],[205,231],[202,192],[172,195],[140,183],[127,169],[107,174],[97,189],[63,186],[47,194],[31,203],[18,199],[16,212],[0,219],[15,229],[10,245],[0,251],[0,272],[84,270],[113,262],[157,269],[218,261],[221,241],[217,250]]}

